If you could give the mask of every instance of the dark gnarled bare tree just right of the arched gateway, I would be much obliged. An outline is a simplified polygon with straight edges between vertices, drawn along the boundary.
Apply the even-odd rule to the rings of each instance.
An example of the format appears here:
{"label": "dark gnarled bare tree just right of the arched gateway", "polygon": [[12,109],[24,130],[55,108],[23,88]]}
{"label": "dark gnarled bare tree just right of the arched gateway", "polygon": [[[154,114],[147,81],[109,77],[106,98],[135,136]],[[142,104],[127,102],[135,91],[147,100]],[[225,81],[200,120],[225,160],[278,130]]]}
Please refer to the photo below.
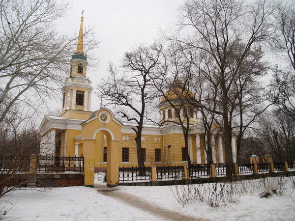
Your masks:
{"label": "dark gnarled bare tree just right of the arched gateway", "polygon": [[[140,45],[123,56],[121,69],[110,64],[109,76],[98,85],[98,95],[103,95],[108,102],[118,109],[118,113],[128,122],[135,122],[132,127],[136,133],[136,149],[139,167],[144,168],[141,137],[146,120],[147,109],[152,91],[150,75],[158,64],[161,46]],[[143,170],[144,172],[144,170]]]}

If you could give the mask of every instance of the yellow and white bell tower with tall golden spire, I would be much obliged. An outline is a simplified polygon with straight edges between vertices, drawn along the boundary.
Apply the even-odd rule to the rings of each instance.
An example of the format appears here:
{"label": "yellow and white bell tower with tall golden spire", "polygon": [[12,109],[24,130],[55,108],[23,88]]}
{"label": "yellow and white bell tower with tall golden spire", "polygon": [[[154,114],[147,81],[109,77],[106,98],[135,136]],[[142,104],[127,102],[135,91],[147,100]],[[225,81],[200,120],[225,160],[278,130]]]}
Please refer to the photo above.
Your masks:
{"label": "yellow and white bell tower with tall golden spire", "polygon": [[86,77],[87,57],[83,47],[83,13],[79,30],[77,51],[70,60],[70,77],[65,79],[62,87],[62,111],[61,116],[68,119],[86,120],[91,110],[91,92],[93,87],[91,81]]}

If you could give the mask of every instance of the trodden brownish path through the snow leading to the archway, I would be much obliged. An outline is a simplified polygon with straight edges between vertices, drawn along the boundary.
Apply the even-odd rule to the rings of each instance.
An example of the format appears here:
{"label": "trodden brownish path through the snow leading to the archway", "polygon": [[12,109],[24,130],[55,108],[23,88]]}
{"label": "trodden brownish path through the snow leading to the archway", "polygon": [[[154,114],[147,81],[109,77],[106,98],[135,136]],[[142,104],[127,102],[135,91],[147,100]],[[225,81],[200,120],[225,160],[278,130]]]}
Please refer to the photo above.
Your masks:
{"label": "trodden brownish path through the snow leading to the archway", "polygon": [[124,204],[128,204],[133,208],[137,208],[142,210],[143,212],[147,212],[153,216],[160,218],[161,220],[169,220],[169,221],[179,221],[179,220],[189,220],[189,221],[205,221],[204,219],[196,219],[191,216],[185,216],[183,214],[179,214],[177,212],[167,210],[158,205],[153,205],[147,202],[147,200],[143,200],[140,197],[135,195],[128,194],[126,192],[121,192],[118,189],[112,190],[107,187],[99,187],[96,186],[99,193],[112,197],[115,200],[121,201]]}

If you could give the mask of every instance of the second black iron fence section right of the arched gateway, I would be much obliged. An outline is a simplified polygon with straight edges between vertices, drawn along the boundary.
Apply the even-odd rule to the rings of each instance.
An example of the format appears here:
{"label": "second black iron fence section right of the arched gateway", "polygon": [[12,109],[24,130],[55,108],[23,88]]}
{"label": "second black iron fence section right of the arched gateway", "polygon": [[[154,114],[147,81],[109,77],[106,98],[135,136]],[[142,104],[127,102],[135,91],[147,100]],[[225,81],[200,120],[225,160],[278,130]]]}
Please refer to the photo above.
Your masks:
{"label": "second black iron fence section right of the arched gateway", "polygon": [[182,179],[183,170],[183,166],[157,166],[157,180]]}

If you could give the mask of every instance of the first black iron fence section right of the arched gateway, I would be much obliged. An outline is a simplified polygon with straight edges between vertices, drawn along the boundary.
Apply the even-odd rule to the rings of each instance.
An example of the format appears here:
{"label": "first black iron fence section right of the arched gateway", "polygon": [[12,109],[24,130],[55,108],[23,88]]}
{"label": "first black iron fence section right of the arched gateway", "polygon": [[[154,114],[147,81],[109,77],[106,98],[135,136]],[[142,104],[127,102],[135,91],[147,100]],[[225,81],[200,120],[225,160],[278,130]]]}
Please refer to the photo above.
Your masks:
{"label": "first black iron fence section right of the arched gateway", "polygon": [[119,182],[129,181],[149,181],[151,176],[151,167],[119,167]]}

